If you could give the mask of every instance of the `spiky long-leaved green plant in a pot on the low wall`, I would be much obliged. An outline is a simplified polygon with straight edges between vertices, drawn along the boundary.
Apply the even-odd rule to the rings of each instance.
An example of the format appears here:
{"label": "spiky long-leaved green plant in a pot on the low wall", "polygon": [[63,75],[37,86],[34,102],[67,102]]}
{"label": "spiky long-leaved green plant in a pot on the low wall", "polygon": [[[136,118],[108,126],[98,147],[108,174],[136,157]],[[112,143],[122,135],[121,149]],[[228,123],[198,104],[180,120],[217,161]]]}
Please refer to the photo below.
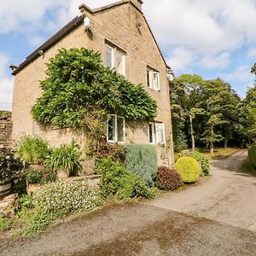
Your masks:
{"label": "spiky long-leaved green plant in a pot on the low wall", "polygon": [[57,177],[69,177],[72,171],[81,168],[81,154],[79,145],[73,140],[69,145],[55,148],[44,161],[44,165],[56,172]]}

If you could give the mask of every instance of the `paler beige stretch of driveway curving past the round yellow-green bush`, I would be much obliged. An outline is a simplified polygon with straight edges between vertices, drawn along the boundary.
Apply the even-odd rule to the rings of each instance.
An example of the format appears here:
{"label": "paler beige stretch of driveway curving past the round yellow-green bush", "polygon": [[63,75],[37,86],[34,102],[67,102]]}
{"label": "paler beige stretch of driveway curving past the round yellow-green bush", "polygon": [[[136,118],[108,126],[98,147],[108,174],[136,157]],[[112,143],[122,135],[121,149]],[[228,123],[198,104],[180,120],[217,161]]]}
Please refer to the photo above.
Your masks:
{"label": "paler beige stretch of driveway curving past the round yellow-green bush", "polygon": [[256,177],[240,171],[246,158],[247,150],[243,150],[223,160],[212,160],[212,175],[202,178],[200,185],[148,205],[256,231]]}

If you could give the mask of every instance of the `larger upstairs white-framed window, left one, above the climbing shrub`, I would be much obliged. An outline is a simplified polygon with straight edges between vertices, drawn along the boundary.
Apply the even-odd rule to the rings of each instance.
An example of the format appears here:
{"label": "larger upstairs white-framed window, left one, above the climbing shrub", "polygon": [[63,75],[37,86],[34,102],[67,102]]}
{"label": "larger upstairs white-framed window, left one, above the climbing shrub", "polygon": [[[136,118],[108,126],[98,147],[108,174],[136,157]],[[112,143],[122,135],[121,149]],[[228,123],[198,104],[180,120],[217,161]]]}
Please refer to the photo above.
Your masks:
{"label": "larger upstairs white-framed window, left one, above the climbing shrub", "polygon": [[125,54],[121,50],[105,44],[105,64],[125,76]]}

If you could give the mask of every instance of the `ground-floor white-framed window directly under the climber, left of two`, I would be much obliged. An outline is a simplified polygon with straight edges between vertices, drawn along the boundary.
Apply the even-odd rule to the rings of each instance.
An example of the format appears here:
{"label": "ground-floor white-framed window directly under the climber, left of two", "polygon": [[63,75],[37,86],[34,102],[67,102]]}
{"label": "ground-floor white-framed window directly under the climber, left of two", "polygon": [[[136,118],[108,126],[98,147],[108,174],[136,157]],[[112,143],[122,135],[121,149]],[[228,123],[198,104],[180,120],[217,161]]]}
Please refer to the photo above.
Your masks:
{"label": "ground-floor white-framed window directly under the climber, left of two", "polygon": [[110,114],[107,122],[108,143],[125,143],[125,118]]}

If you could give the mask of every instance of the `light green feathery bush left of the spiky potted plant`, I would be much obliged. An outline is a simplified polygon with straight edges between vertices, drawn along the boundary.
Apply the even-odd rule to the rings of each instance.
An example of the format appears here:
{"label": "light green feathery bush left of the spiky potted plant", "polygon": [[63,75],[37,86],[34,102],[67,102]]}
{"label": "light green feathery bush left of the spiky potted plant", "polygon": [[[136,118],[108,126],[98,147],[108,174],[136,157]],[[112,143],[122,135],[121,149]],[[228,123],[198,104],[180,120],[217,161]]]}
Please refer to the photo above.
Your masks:
{"label": "light green feathery bush left of the spiky potted plant", "polygon": [[43,163],[50,153],[49,143],[41,137],[21,137],[17,144],[17,154],[26,163]]}

